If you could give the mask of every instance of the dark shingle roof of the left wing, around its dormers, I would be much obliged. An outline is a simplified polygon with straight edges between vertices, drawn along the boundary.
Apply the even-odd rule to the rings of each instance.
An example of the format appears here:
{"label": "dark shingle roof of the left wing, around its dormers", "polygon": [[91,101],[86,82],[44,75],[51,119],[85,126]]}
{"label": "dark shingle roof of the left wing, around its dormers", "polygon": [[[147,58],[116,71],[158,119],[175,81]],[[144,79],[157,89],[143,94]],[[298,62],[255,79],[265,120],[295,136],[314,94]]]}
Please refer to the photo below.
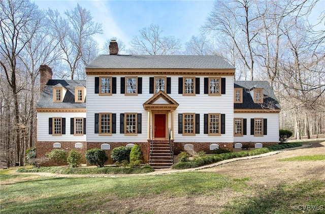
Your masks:
{"label": "dark shingle roof of the left wing, around its dormers", "polygon": [[[57,109],[85,109],[86,102],[75,102],[75,87],[86,87],[85,80],[49,80],[41,94],[36,108],[57,108]],[[67,89],[62,102],[53,102],[53,87]]]}

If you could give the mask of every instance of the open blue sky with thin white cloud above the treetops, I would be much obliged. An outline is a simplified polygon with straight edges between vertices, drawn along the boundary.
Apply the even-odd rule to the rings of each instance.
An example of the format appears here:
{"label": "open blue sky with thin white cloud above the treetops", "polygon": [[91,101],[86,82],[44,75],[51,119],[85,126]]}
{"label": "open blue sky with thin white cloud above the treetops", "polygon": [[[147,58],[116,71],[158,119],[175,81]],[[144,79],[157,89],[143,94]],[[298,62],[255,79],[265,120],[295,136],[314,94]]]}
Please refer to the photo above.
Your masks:
{"label": "open blue sky with thin white cloud above the treetops", "polygon": [[100,48],[111,37],[121,40],[129,48],[132,38],[150,24],[159,25],[164,30],[163,35],[172,35],[182,44],[188,42],[192,35],[200,33],[214,1],[36,0],[35,3],[41,9],[57,9],[61,15],[79,3],[90,11],[93,21],[102,23],[104,33],[95,38]]}

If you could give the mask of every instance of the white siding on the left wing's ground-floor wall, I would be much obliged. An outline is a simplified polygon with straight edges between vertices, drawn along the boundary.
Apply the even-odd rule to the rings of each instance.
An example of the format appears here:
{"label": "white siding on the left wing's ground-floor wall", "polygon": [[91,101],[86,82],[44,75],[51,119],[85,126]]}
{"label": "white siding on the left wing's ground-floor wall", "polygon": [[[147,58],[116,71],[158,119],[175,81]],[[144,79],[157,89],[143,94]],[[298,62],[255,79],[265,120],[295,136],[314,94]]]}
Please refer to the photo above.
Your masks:
{"label": "white siding on the left wing's ground-floor wall", "polygon": [[[61,136],[53,136],[49,134],[49,118],[62,117],[66,118],[66,134]],[[86,117],[86,113],[38,113],[38,141],[86,141],[86,135],[74,136],[70,134],[70,118]],[[86,125],[88,121],[86,120]],[[86,130],[86,133],[88,130]]]}

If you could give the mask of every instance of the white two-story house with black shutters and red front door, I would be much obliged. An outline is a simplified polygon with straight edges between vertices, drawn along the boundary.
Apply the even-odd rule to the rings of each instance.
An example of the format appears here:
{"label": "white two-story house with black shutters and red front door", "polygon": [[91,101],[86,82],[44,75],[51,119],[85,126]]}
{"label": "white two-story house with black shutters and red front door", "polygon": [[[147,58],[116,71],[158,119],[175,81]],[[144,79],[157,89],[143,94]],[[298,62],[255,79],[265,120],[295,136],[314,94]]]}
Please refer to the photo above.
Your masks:
{"label": "white two-story house with black shutters and red front door", "polygon": [[[219,56],[117,53],[117,43],[112,41],[110,55],[100,55],[86,67],[86,113],[82,113],[87,118],[87,124],[83,123],[86,150],[102,148],[110,156],[116,147],[137,144],[145,161],[169,167],[173,154],[181,151],[212,153],[216,148],[278,144],[280,108],[267,82],[234,81],[235,68]],[[52,81],[46,87],[53,94],[47,96],[53,96],[57,104],[55,89],[62,86],[64,92],[68,86]],[[69,148],[73,147],[78,136],[70,134],[68,140],[67,133],[47,133],[46,118],[56,118],[55,113],[42,120],[40,113],[39,140],[44,142],[40,138],[44,135],[50,137],[49,147],[54,141],[71,141]]]}

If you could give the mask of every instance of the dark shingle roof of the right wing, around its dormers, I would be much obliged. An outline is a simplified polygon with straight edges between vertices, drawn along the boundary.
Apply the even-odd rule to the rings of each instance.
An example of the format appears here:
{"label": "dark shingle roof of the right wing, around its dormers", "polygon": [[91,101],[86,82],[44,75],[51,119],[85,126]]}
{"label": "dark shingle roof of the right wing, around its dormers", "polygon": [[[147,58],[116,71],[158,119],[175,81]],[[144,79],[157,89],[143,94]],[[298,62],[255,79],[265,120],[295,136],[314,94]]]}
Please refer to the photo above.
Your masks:
{"label": "dark shingle roof of the right wing, around its dormers", "polygon": [[[243,88],[243,103],[234,103],[234,109],[281,109],[267,81],[235,81],[234,88]],[[253,88],[263,88],[263,103],[254,103],[250,95],[250,90]]]}

